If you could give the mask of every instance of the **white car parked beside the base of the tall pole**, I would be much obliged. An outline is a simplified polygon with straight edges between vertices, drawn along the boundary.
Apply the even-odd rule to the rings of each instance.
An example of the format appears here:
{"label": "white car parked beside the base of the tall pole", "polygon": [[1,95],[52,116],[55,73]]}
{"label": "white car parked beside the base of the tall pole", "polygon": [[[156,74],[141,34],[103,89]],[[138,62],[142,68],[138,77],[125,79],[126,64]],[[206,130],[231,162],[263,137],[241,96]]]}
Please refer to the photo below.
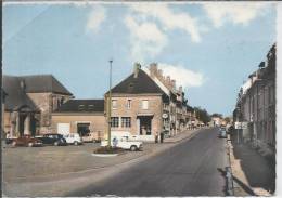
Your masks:
{"label": "white car parked beside the base of the tall pole", "polygon": [[[116,142],[114,141],[115,137],[112,138],[111,141],[111,146],[116,146],[119,148],[124,149],[129,149],[131,151],[137,151],[137,150],[142,150],[143,143],[140,141],[129,141],[128,136],[123,136],[120,138],[115,138]],[[114,143],[115,142],[115,143]],[[107,140],[101,142],[101,146],[107,146]]]}

